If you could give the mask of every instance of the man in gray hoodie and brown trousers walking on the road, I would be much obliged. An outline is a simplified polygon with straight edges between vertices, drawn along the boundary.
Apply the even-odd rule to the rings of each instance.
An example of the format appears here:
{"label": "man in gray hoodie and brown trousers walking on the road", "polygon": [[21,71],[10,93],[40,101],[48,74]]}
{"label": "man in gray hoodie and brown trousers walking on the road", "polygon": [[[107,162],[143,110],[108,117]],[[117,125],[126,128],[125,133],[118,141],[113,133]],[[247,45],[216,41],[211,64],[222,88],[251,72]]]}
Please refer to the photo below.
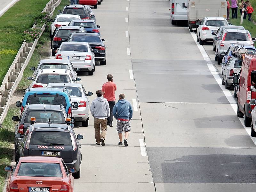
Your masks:
{"label": "man in gray hoodie and brown trousers walking on the road", "polygon": [[[96,144],[105,146],[105,138],[107,131],[107,118],[109,117],[109,104],[108,100],[102,97],[102,91],[96,91],[97,98],[92,101],[91,104],[91,114],[94,117],[94,129],[95,129],[95,139]],[[100,134],[101,127],[101,134]]]}

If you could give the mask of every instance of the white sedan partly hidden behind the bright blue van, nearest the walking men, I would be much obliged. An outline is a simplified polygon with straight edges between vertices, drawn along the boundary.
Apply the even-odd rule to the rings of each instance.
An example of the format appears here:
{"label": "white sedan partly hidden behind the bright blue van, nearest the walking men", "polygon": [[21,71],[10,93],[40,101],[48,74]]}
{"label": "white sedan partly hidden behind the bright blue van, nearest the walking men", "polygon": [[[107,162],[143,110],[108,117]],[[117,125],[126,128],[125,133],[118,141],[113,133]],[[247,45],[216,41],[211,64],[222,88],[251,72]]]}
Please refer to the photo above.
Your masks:
{"label": "white sedan partly hidden behind the bright blue van, nearest the walking men", "polygon": [[82,121],[82,125],[84,127],[88,127],[90,100],[87,96],[91,96],[92,92],[88,91],[87,93],[84,86],[78,83],[50,83],[47,87],[66,87],[69,92],[72,105],[74,102],[78,103],[78,108],[73,109],[73,117],[75,117],[76,121]]}

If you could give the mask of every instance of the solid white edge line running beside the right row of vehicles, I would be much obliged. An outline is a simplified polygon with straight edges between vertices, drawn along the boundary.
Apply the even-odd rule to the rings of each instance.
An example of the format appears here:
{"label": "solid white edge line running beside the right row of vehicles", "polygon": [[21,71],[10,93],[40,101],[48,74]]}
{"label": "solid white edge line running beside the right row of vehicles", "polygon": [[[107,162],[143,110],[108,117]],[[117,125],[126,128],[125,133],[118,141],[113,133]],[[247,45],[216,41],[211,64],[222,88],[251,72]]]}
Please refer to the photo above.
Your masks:
{"label": "solid white edge line running beside the right row of vehicles", "polygon": [[[203,55],[204,57],[204,60],[207,62],[207,66],[210,70],[210,72],[212,73],[212,76],[214,77],[214,79],[217,81],[217,83],[219,84],[220,86],[220,89],[223,91],[224,95],[226,96],[229,104],[231,105],[231,107],[233,108],[233,110],[235,111],[235,113],[237,114],[237,102],[235,100],[235,98],[233,97],[233,94],[231,91],[229,90],[226,90],[224,88],[224,86],[222,85],[222,79],[220,78],[220,74],[219,74],[219,71],[216,70],[216,68],[214,67],[213,63],[212,63],[212,60],[210,59],[210,57],[208,56],[207,52],[205,51],[203,45],[200,45],[198,42],[197,42],[197,37],[196,37],[196,34],[193,33],[193,32],[190,32],[190,34],[192,35],[199,51],[201,52],[201,54]],[[251,136],[251,128],[247,128],[244,126],[244,118],[238,118],[241,122],[241,124],[243,125],[244,129],[246,130],[246,132],[248,133],[248,135],[250,136],[250,138],[252,139],[253,143],[255,144],[254,140],[255,138],[253,138]],[[255,144],[256,145],[256,144]]]}

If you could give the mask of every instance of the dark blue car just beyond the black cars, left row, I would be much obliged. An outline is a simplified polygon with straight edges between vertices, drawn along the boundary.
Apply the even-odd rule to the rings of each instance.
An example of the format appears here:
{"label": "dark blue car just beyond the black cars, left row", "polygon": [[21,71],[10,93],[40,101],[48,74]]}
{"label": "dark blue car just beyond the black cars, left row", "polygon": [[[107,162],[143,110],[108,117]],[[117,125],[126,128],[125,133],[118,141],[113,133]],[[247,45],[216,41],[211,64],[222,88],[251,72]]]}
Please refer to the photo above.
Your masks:
{"label": "dark blue car just beyond the black cars, left row", "polygon": [[87,33],[98,33],[100,36],[100,26],[96,25],[93,20],[72,20],[68,26],[82,26],[86,29]]}

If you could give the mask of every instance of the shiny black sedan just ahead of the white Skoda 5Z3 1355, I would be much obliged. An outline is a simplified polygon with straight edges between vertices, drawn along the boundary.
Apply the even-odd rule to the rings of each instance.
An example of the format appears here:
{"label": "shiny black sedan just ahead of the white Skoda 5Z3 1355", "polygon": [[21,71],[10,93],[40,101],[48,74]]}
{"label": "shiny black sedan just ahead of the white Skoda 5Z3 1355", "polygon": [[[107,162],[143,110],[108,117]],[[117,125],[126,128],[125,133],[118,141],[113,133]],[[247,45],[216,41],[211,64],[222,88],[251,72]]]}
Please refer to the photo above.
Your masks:
{"label": "shiny black sedan just ahead of the white Skoda 5Z3 1355", "polygon": [[107,49],[103,43],[105,39],[100,39],[98,33],[72,33],[68,37],[68,41],[88,42],[95,54],[96,61],[100,61],[100,65],[106,65]]}

